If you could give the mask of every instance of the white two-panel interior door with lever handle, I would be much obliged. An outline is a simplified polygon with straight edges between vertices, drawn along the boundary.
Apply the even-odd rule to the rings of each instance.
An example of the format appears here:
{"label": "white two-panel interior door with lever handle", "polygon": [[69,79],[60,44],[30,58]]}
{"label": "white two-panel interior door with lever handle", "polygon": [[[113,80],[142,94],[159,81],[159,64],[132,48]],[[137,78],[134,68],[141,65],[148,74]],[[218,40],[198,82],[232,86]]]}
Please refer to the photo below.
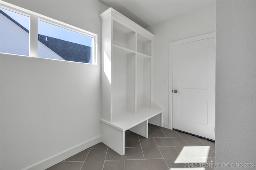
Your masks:
{"label": "white two-panel interior door with lever handle", "polygon": [[215,37],[172,47],[172,128],[215,140]]}

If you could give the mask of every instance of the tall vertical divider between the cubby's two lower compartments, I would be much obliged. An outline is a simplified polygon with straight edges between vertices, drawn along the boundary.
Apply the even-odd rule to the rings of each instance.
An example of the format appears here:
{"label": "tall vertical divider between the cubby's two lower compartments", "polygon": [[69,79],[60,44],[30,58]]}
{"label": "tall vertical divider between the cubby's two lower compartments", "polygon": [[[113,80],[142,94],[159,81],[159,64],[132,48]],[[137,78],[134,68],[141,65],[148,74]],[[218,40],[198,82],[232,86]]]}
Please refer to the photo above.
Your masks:
{"label": "tall vertical divider between the cubby's two lower compartments", "polygon": [[126,110],[136,113],[136,82],[135,82],[136,56],[135,53],[127,54],[126,63]]}

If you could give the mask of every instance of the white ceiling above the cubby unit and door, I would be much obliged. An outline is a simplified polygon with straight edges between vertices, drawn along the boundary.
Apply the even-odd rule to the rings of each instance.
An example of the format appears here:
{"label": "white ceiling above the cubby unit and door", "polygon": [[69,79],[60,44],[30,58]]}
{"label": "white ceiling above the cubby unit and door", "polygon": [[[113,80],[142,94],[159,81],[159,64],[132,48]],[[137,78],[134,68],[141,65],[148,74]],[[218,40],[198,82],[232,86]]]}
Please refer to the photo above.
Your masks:
{"label": "white ceiling above the cubby unit and door", "polygon": [[215,0],[100,0],[142,27],[174,18]]}

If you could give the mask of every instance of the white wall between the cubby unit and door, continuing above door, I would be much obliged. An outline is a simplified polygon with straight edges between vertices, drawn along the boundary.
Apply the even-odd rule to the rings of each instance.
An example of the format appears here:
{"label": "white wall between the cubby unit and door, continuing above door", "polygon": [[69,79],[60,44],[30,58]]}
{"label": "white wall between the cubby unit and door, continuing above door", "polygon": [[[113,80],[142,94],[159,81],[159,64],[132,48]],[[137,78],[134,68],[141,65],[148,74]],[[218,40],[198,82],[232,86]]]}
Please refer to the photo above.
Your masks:
{"label": "white wall between the cubby unit and door, continuing above door", "polygon": [[169,42],[214,32],[215,4],[147,29],[155,35],[152,59],[153,105],[164,109],[164,127],[168,127]]}

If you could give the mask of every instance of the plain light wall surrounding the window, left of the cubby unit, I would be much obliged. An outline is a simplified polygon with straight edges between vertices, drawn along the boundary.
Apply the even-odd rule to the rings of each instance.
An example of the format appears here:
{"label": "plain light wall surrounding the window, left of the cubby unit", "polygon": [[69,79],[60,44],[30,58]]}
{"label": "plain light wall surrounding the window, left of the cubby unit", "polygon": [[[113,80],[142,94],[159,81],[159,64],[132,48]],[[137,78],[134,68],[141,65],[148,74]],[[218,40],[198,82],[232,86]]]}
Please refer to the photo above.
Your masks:
{"label": "plain light wall surrounding the window, left of the cubby unit", "polygon": [[[8,2],[96,33],[100,42],[99,14],[108,6],[99,1]],[[1,170],[39,161],[32,169],[45,169],[101,141],[99,63],[100,43],[98,65],[1,54]]]}

